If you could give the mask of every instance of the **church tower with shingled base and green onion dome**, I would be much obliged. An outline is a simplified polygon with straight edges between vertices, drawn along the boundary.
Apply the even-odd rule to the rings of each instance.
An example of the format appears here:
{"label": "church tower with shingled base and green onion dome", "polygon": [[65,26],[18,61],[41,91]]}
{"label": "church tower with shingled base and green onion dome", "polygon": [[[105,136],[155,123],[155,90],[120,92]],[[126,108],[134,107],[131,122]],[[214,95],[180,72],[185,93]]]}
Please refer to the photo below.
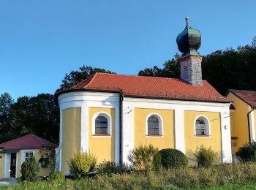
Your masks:
{"label": "church tower with shingled base and green onion dome", "polygon": [[[188,17],[185,18],[186,22]],[[188,25],[176,39],[178,50],[182,56],[178,60],[181,65],[181,80],[193,86],[202,86],[202,56],[197,53],[201,45],[200,31]]]}

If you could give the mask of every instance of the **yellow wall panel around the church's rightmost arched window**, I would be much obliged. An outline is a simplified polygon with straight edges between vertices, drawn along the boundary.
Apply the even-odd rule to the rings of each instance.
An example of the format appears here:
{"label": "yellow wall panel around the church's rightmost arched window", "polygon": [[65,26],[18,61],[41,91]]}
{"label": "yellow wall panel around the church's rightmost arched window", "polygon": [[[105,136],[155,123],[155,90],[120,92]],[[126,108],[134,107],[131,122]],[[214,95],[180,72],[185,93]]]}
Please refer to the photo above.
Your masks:
{"label": "yellow wall panel around the church's rightmost arched window", "polygon": [[[203,115],[210,122],[211,135],[210,137],[195,137],[195,118]],[[221,147],[221,123],[220,113],[215,112],[199,112],[199,111],[184,111],[184,135],[185,135],[185,152],[189,158],[192,158],[193,152],[200,145],[211,149],[217,153],[217,162],[221,162],[222,147]]]}

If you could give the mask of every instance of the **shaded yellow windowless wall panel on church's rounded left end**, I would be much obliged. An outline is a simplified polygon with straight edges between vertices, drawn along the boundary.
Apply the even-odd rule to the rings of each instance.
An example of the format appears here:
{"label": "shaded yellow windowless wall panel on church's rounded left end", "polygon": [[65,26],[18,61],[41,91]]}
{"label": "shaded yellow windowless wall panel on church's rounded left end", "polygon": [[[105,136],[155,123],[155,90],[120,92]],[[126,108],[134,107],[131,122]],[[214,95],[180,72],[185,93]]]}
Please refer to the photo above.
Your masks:
{"label": "shaded yellow windowless wall panel on church's rounded left end", "polygon": [[80,151],[80,129],[81,108],[62,110],[61,172],[69,172],[67,162]]}

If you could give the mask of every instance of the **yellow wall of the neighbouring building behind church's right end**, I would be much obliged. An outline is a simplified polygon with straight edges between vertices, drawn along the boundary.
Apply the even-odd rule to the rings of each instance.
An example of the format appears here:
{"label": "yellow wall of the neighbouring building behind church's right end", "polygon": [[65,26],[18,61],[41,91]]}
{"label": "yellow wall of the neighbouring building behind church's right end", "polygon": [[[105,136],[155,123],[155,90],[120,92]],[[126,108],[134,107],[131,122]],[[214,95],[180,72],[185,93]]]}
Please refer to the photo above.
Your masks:
{"label": "yellow wall of the neighbouring building behind church's right end", "polygon": [[236,154],[238,148],[244,145],[245,142],[249,142],[248,120],[247,113],[249,112],[249,105],[239,99],[232,93],[227,95],[236,108],[233,112],[230,112],[230,126],[231,136],[236,137],[232,139],[232,153]]}

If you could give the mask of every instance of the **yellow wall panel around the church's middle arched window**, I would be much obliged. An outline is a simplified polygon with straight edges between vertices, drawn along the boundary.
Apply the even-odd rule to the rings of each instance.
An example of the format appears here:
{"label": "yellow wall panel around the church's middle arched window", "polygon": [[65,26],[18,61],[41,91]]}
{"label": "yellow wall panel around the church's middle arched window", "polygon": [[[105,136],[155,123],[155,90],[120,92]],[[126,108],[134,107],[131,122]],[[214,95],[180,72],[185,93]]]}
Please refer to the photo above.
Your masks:
{"label": "yellow wall panel around the church's middle arched window", "polygon": [[[151,113],[157,113],[162,117],[163,136],[150,137],[146,135],[146,118]],[[140,145],[152,144],[159,148],[174,148],[174,128],[173,128],[173,110],[159,110],[159,109],[143,109],[135,108],[134,113],[134,131],[135,131],[135,148]]]}

